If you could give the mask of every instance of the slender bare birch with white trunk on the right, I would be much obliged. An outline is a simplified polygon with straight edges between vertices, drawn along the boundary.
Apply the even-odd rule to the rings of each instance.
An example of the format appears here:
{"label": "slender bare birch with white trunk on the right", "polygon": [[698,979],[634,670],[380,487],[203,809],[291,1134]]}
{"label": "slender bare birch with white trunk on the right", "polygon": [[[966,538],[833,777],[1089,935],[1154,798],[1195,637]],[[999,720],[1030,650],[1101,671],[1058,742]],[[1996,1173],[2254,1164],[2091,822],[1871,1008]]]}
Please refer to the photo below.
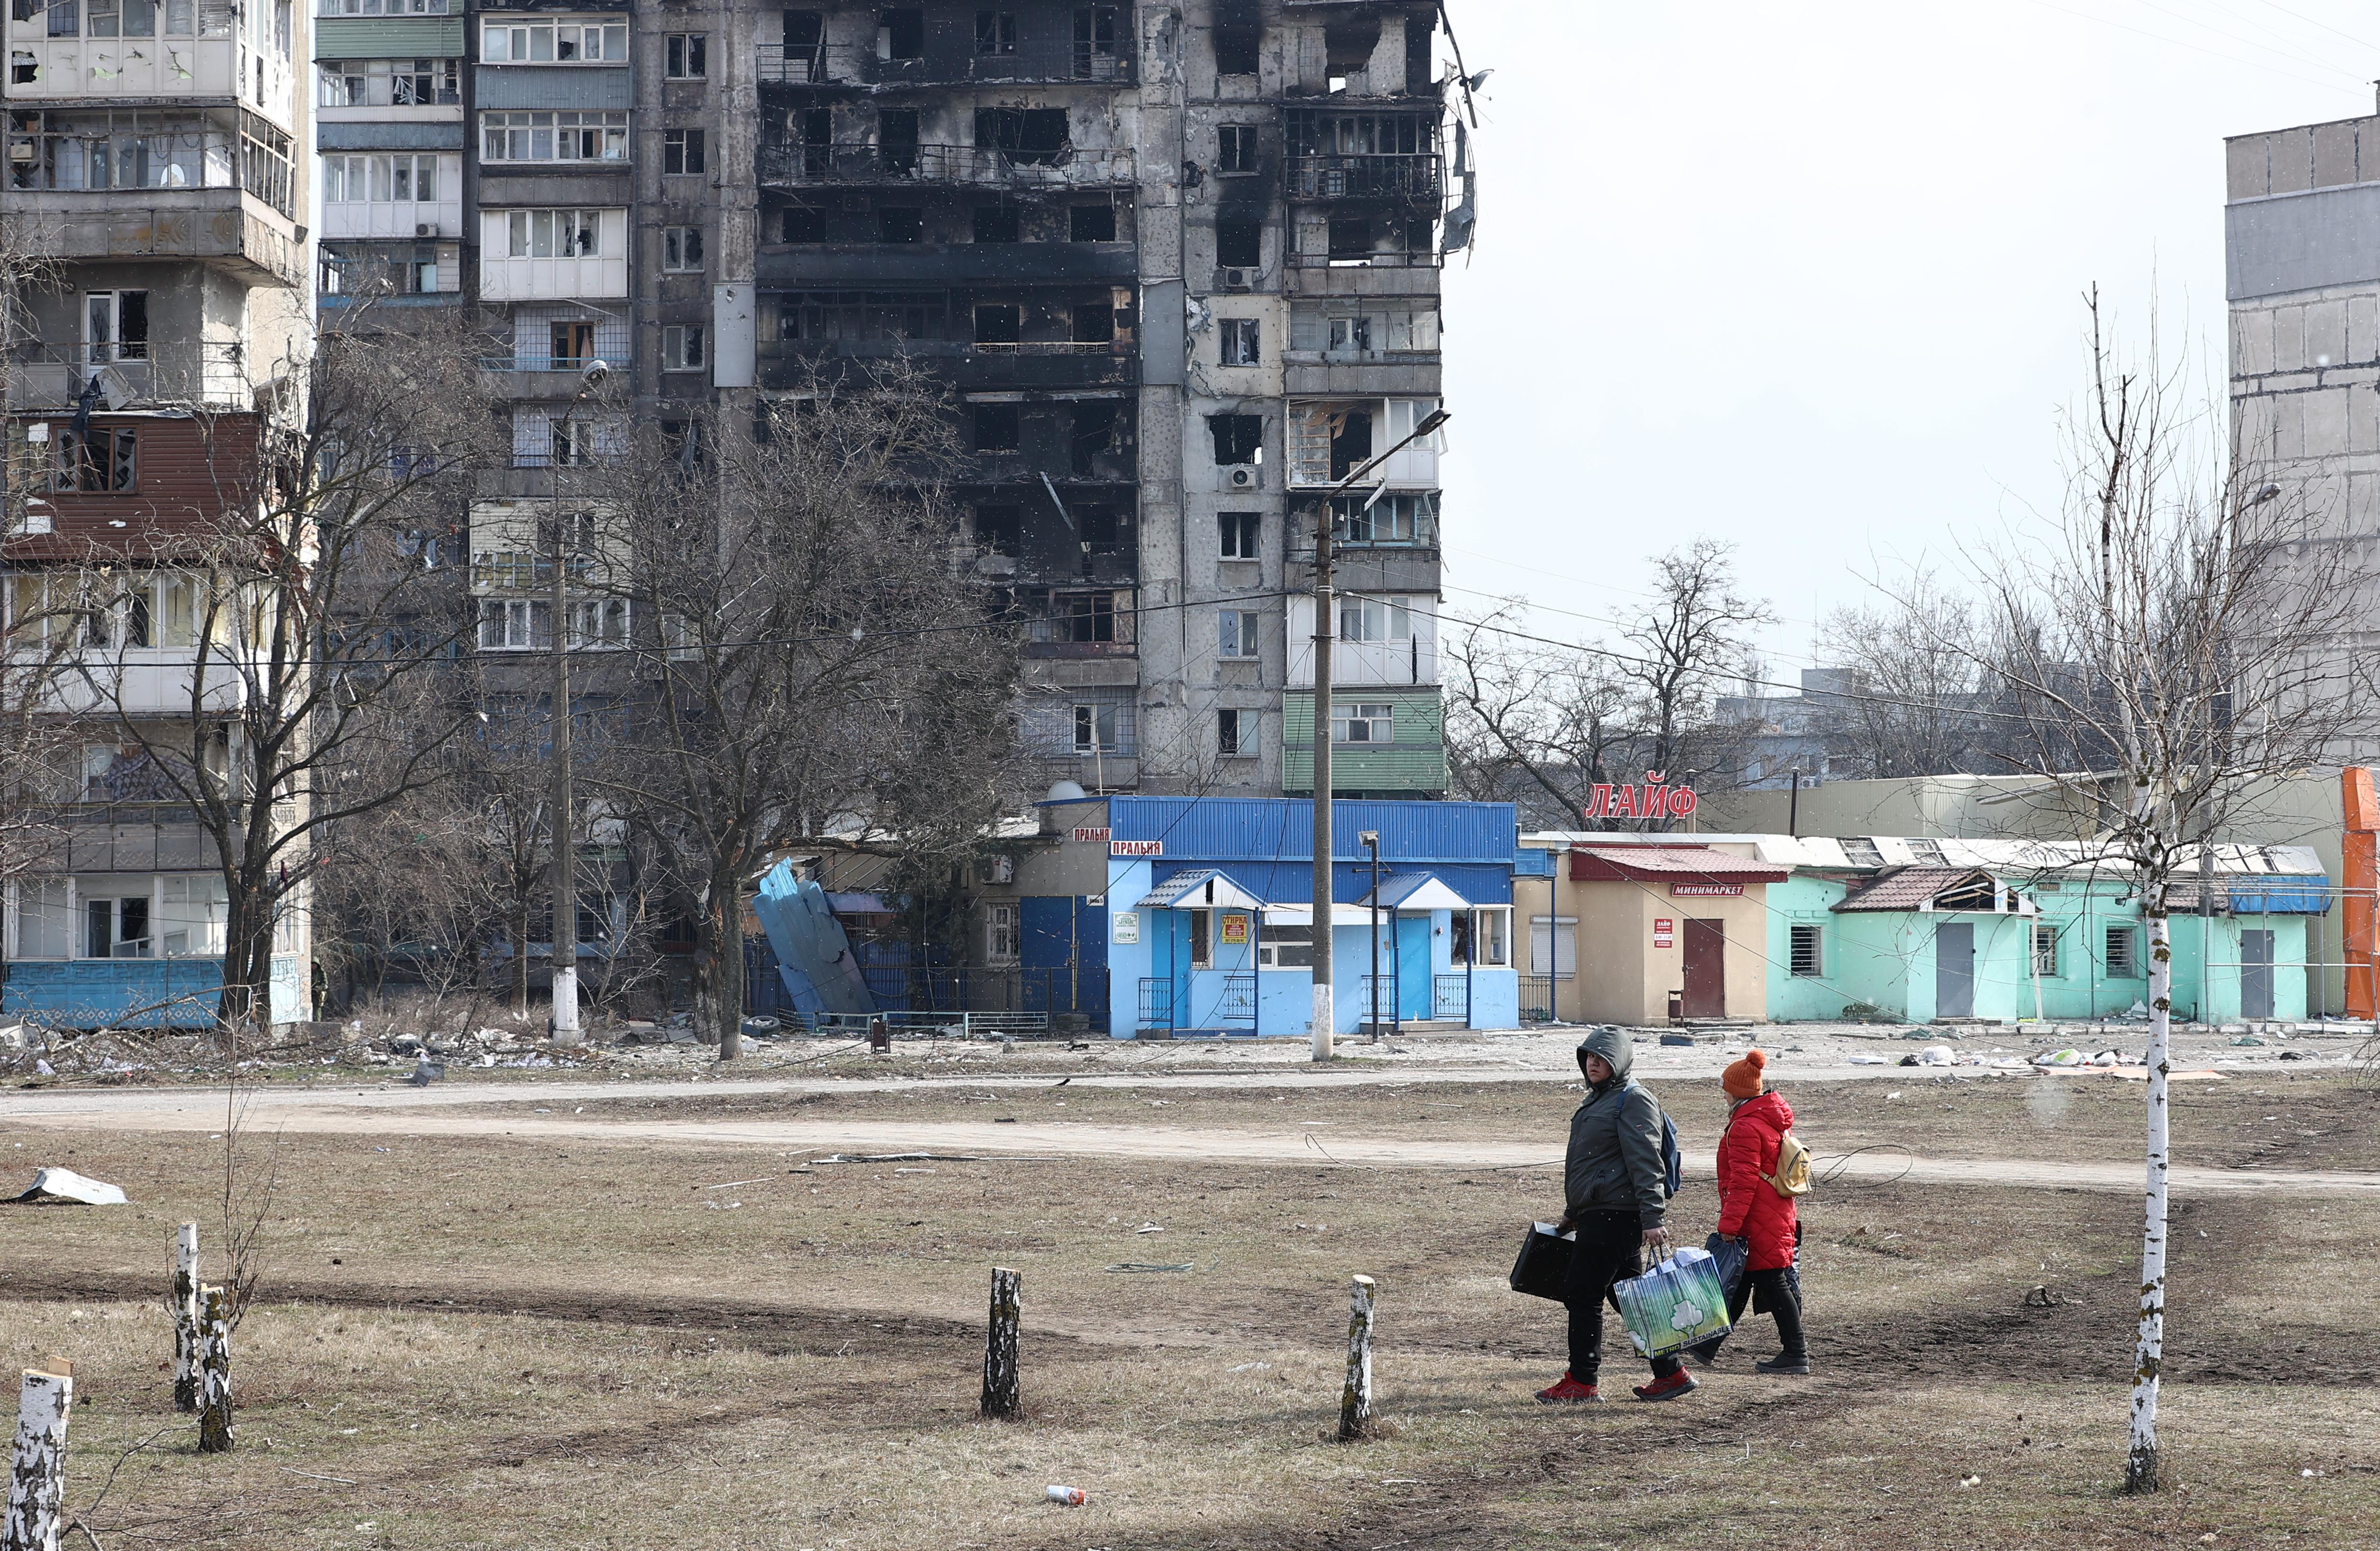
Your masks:
{"label": "slender bare birch with white trunk on the right", "polygon": [[[2125,1484],[2159,1482],[2173,952],[2166,899],[2259,783],[2370,735],[2359,616],[2368,545],[2268,483],[2271,447],[2185,402],[2152,350],[2128,366],[2090,295],[2090,388],[2047,533],[1975,557],[1975,628],[1942,630],[1994,699],[2018,771],[2102,814],[2099,859],[2137,880],[2149,933],[2147,1218]],[[1916,592],[1904,595],[1904,604]],[[2087,764],[2078,764],[2078,756]]]}

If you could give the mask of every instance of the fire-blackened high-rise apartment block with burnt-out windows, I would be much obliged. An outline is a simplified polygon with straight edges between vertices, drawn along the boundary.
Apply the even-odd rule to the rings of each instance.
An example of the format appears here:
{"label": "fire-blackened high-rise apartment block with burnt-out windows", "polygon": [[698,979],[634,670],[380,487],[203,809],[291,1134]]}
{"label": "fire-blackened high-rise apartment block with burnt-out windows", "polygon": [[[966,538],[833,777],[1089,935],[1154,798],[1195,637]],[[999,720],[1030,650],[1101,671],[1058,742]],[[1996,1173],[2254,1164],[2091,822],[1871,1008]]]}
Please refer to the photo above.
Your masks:
{"label": "fire-blackened high-rise apartment block with burnt-out windows", "polygon": [[[324,307],[464,304],[509,340],[474,552],[607,416],[907,354],[964,416],[957,564],[1023,621],[1050,776],[1311,785],[1319,507],[1438,407],[1468,238],[1440,5],[312,2]],[[1435,438],[1335,502],[1354,795],[1445,790],[1438,519]],[[481,642],[528,649],[509,576]]]}

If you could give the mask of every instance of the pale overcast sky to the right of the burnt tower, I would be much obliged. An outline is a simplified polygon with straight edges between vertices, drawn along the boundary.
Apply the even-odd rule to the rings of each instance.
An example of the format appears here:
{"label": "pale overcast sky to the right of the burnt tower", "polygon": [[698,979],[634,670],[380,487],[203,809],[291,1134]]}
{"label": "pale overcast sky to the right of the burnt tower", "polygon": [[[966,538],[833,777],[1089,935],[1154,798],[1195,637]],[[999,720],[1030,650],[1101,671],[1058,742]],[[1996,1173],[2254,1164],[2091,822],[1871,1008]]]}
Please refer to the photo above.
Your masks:
{"label": "pale overcast sky to the right of the burnt tower", "polygon": [[1447,269],[1447,607],[1566,638],[1740,545],[1771,676],[1861,576],[2061,495],[2080,293],[2221,393],[2223,136],[2373,112],[2335,0],[1454,0],[1478,252]]}

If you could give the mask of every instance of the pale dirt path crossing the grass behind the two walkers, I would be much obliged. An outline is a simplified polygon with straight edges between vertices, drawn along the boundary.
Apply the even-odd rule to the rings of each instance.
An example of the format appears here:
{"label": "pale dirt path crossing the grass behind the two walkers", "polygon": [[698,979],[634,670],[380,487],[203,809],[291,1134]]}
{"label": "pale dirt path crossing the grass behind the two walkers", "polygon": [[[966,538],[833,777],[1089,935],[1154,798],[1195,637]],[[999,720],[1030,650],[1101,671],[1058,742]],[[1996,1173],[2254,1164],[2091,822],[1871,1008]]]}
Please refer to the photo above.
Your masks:
{"label": "pale dirt path crossing the grass behind the two walkers", "polygon": [[[581,1085],[578,1097],[619,1097],[626,1085]],[[685,1085],[674,1085],[678,1092]],[[436,1092],[436,1090],[431,1090]],[[471,1092],[471,1090],[457,1090]],[[488,1090],[495,1092],[495,1090]],[[716,1092],[695,1087],[693,1092]],[[259,1130],[352,1137],[514,1137],[524,1142],[602,1142],[671,1149],[766,1149],[778,1154],[981,1154],[981,1156],[1095,1156],[1095,1158],[1228,1158],[1235,1163],[1316,1163],[1366,1168],[1552,1168],[1559,1142],[1421,1139],[1390,1135],[1316,1137],[1311,1132],[1192,1130],[1173,1125],[1083,1123],[985,1123],[985,1120],[583,1120],[562,1113],[474,1113],[474,1104],[386,1104],[390,1094],[274,1094],[259,1106]],[[571,1085],[507,1090],[514,1104],[571,1099]],[[0,1106],[0,1125],[40,1130],[143,1130],[212,1132],[219,1104],[202,1094],[74,1094],[38,1104],[31,1094]],[[357,1101],[362,1099],[362,1101]],[[416,1099],[416,1094],[407,1094]],[[2023,1185],[2054,1189],[2135,1192],[2137,1163],[2047,1163],[2030,1158],[1923,1158],[1902,1149],[1875,1149],[1842,1158],[1821,1156],[1821,1168],[1864,1180],[1916,1180],[1944,1185]],[[1687,1173],[1709,1173],[1699,1156]],[[2175,1194],[2216,1192],[2380,1192],[2380,1173],[2351,1170],[2230,1170],[2175,1168]]]}

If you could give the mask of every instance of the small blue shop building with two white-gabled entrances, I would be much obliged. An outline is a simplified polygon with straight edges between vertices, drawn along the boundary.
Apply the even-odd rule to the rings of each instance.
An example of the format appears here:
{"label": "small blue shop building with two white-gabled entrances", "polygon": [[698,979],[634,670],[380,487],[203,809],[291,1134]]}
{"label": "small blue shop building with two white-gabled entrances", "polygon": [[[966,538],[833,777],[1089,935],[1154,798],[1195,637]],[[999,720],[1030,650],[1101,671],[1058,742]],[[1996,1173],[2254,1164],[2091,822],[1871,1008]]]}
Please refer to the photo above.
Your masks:
{"label": "small blue shop building with two white-gabled entrances", "polygon": [[[1516,1028],[1514,806],[1338,802],[1330,830],[1335,1032]],[[1059,799],[1042,835],[1033,873],[1081,894],[1023,899],[1026,959],[1102,971],[1111,1037],[1311,1037],[1309,802]]]}

